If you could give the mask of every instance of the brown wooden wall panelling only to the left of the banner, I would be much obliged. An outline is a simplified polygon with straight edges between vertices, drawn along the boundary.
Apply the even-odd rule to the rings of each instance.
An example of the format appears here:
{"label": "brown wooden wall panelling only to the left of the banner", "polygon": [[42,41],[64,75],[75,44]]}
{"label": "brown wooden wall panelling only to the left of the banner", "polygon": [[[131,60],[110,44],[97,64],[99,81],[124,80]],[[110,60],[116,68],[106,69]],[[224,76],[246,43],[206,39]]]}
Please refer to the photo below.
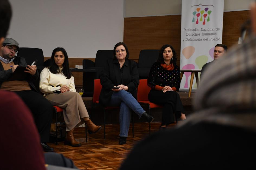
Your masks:
{"label": "brown wooden wall panelling only to the left of the banner", "polygon": [[[142,49],[160,49],[171,44],[180,56],[181,15],[124,19],[124,42],[130,58],[138,59]],[[178,57],[180,58],[180,57]]]}

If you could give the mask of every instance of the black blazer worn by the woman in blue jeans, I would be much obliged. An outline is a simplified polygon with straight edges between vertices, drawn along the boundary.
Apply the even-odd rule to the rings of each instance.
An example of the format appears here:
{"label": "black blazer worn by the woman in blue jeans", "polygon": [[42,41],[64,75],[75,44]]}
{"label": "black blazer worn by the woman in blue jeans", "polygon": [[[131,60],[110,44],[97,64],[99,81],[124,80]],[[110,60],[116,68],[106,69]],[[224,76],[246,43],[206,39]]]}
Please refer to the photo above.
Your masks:
{"label": "black blazer worn by the woman in blue jeans", "polygon": [[140,82],[137,63],[133,60],[126,59],[123,67],[124,70],[121,79],[121,70],[118,60],[107,60],[103,73],[100,77],[102,89],[99,97],[99,103],[103,106],[108,106],[109,104],[111,96],[114,93],[111,89],[120,84],[128,86],[128,92],[137,99],[137,87]]}

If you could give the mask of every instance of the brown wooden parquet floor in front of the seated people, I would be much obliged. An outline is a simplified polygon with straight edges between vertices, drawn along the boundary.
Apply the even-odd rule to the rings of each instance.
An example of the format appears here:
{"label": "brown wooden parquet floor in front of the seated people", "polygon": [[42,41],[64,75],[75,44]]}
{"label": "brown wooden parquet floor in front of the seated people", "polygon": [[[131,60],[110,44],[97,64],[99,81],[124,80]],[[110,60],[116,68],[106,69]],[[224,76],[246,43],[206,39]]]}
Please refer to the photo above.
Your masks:
{"label": "brown wooden parquet floor in front of the seated people", "polygon": [[[151,133],[159,130],[161,123],[151,123]],[[178,122],[179,124],[179,122]],[[168,128],[176,127],[176,123],[168,126]],[[106,140],[103,138],[103,127],[96,134],[88,134],[89,141],[85,142],[85,128],[76,128],[74,137],[82,143],[80,147],[71,147],[59,142],[59,145],[48,143],[54,148],[54,152],[63,154],[65,157],[73,160],[79,169],[87,170],[112,170],[118,169],[122,161],[134,145],[149,135],[148,123],[135,123],[135,136],[132,138],[132,124],[130,125],[127,143],[119,145],[119,124],[106,125]]]}

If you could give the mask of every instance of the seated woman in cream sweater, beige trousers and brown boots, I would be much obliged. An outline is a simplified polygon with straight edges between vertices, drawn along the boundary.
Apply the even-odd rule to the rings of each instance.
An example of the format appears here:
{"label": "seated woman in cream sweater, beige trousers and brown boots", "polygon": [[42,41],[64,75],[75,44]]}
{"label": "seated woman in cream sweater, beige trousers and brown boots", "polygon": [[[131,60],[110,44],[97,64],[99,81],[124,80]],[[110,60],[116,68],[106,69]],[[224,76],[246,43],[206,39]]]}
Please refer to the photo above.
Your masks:
{"label": "seated woman in cream sweater, beige trousers and brown boots", "polygon": [[50,67],[46,67],[40,74],[40,91],[54,106],[63,108],[67,135],[64,144],[72,147],[81,144],[74,139],[75,127],[86,123],[89,133],[96,133],[101,126],[96,126],[89,118],[82,97],[76,92],[74,77],[69,70],[67,52],[57,47],[51,55]]}

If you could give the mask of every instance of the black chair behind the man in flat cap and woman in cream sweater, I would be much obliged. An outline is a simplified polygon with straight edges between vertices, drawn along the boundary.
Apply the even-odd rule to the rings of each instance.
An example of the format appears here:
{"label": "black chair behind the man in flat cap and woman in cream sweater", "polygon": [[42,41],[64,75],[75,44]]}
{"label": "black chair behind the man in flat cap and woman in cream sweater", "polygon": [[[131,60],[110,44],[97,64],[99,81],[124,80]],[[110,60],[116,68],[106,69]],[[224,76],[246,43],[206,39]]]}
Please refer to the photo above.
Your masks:
{"label": "black chair behind the man in flat cap and woman in cream sweater", "polygon": [[[26,63],[31,65],[35,60],[37,63],[37,70],[39,74],[44,68],[44,53],[43,50],[40,48],[28,48],[28,47],[20,47],[19,52],[17,53],[18,56],[25,58]],[[37,91],[39,90],[39,79],[33,80],[33,84],[35,85]]]}

